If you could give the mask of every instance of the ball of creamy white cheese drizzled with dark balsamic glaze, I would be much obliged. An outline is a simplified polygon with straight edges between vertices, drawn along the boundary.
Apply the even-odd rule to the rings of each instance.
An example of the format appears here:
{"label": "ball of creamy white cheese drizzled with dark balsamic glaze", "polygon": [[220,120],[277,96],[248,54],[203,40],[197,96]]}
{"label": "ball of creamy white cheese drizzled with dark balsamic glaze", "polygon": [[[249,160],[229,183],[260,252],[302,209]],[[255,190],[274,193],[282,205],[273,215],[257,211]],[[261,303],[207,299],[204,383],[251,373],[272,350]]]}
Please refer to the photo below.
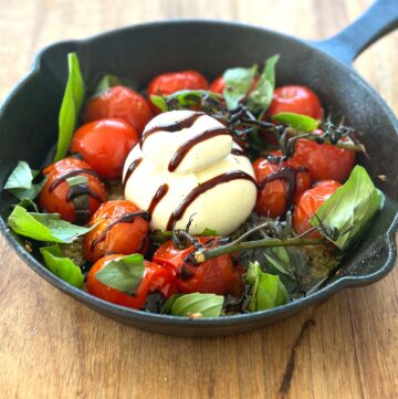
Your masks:
{"label": "ball of creamy white cheese drizzled with dark balsamic glaze", "polygon": [[[144,132],[179,122],[190,114],[193,113],[174,111],[160,114]],[[150,134],[145,138],[143,148],[137,145],[128,155],[124,177],[134,160],[142,158],[142,161],[133,174],[127,176],[126,199],[148,210],[159,188],[167,185],[167,192],[164,192],[151,214],[153,230],[167,230],[170,228],[170,219],[174,219],[175,228],[186,228],[192,218],[192,234],[199,234],[209,228],[226,235],[243,223],[253,210],[256,198],[256,187],[254,180],[251,180],[254,177],[253,168],[245,156],[231,154],[232,147],[239,146],[232,141],[230,135],[210,137],[193,145],[176,170],[168,170],[170,160],[185,143],[211,128],[223,128],[223,125],[208,115],[201,115],[191,127],[178,132],[160,129]],[[218,177],[224,174],[233,175],[234,178],[222,182],[222,178]],[[207,182],[216,181],[212,179],[218,183],[197,195],[202,188],[207,188]],[[182,214],[172,218],[174,212],[184,203],[186,207]]]}

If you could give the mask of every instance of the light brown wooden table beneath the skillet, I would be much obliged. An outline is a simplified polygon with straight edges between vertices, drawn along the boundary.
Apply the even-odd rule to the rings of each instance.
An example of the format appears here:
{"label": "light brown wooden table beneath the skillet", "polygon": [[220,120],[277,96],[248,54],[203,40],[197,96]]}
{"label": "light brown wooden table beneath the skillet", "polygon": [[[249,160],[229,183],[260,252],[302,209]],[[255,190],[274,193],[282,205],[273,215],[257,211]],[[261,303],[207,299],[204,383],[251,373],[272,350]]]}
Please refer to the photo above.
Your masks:
{"label": "light brown wooden table beneath the skillet", "polygon": [[[322,39],[369,3],[0,0],[0,99],[53,41],[178,17]],[[396,113],[397,48],[398,32],[355,64]],[[398,398],[397,270],[271,327],[214,339],[153,335],[100,316],[41,280],[2,239],[0,270],[1,398]]]}

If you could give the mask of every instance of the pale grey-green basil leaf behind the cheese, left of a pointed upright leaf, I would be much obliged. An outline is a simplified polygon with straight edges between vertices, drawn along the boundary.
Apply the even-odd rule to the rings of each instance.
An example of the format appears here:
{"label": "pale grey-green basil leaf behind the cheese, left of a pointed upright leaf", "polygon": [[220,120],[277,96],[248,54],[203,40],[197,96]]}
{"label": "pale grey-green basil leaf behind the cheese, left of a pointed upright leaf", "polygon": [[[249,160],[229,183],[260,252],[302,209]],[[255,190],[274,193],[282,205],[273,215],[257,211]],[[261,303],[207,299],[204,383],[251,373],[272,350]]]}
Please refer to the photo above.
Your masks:
{"label": "pale grey-green basil leaf behind the cheese, left of a pointed upright leaf", "polygon": [[226,87],[222,94],[228,109],[237,108],[240,101],[244,98],[253,83],[256,71],[258,65],[253,65],[252,67],[233,67],[223,73]]}

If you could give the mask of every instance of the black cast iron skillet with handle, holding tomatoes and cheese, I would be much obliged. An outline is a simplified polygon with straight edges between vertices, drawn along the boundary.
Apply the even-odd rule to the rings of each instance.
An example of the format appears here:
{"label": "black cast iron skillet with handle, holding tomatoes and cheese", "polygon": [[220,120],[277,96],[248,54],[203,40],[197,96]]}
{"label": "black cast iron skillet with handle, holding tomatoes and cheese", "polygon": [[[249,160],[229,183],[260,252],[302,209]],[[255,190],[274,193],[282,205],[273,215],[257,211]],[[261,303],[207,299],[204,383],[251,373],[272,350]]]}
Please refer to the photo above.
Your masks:
{"label": "black cast iron skillet with handle, holding tomatoes and cheese", "polygon": [[[133,311],[74,288],[29,254],[6,227],[11,196],[0,195],[0,229],[28,265],[48,282],[93,309],[118,322],[150,332],[216,336],[250,330],[287,317],[333,293],[371,284],[384,277],[396,260],[398,204],[398,126],[388,106],[352,69],[353,60],[376,39],[398,24],[396,0],[376,2],[336,36],[306,42],[244,24],[219,21],[165,21],[126,28],[84,41],[50,45],[33,70],[14,88],[0,111],[0,189],[18,160],[40,167],[56,140],[57,113],[66,80],[66,53],[77,52],[85,80],[93,86],[104,73],[135,80],[140,86],[166,71],[196,69],[209,77],[237,64],[261,64],[280,53],[277,84],[304,84],[346,115],[363,133],[370,159],[359,157],[377,186],[387,195],[384,210],[360,244],[347,258],[338,276],[318,292],[274,309],[209,319],[186,319]],[[239,60],[239,61],[238,61]],[[377,176],[386,175],[381,182]],[[39,260],[39,261],[38,261]]]}

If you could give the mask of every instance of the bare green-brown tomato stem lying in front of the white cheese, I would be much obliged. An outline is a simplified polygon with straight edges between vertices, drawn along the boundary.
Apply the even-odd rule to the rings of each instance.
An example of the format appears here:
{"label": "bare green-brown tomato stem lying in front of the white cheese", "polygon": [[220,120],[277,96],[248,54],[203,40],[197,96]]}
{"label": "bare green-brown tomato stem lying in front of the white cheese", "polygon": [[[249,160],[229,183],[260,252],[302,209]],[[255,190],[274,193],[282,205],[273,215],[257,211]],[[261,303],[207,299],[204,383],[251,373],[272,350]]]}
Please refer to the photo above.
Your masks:
{"label": "bare green-brown tomato stem lying in front of the white cheese", "polygon": [[195,260],[197,263],[206,262],[220,255],[252,250],[255,248],[274,248],[274,246],[302,246],[302,245],[325,245],[325,239],[303,239],[292,238],[286,240],[280,239],[263,239],[255,241],[231,242],[226,245],[216,246],[213,249],[203,249],[195,252]]}

